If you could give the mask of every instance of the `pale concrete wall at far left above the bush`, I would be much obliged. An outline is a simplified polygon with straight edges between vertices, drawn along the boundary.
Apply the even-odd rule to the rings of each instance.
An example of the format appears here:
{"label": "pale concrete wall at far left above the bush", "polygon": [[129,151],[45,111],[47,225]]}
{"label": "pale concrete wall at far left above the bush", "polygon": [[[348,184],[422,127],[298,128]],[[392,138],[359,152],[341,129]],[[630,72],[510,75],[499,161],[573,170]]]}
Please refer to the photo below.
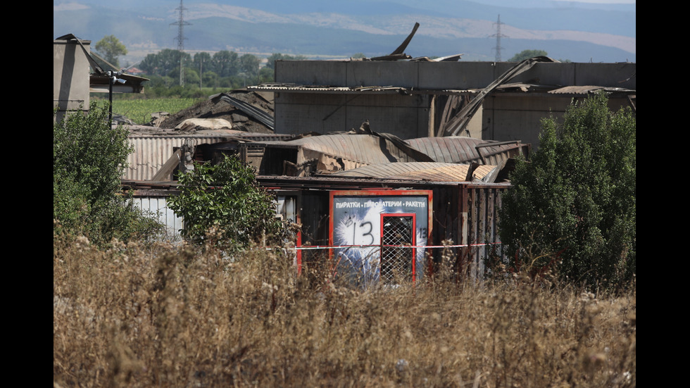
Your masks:
{"label": "pale concrete wall at far left above the bush", "polygon": [[[90,41],[82,41],[89,51]],[[53,41],[53,108],[58,120],[65,111],[89,109],[89,61],[75,41]]]}

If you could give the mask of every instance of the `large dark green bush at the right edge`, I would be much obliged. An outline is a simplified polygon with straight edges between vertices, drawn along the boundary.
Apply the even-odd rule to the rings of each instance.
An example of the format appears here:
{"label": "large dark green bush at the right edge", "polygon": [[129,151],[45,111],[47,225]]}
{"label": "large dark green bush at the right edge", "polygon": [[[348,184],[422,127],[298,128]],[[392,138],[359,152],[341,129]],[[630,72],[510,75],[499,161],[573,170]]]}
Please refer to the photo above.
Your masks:
{"label": "large dark green bush at the right edge", "polygon": [[636,120],[605,94],[542,120],[539,150],[503,196],[501,239],[515,267],[616,287],[636,273]]}

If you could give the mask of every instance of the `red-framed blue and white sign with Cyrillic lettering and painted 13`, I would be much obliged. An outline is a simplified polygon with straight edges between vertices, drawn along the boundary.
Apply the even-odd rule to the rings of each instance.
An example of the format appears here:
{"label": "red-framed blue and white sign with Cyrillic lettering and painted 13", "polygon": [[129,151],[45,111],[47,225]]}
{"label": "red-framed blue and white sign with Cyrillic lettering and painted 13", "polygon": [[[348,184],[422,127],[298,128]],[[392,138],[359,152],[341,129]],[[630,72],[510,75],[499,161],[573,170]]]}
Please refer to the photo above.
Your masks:
{"label": "red-framed blue and white sign with Cyrillic lettering and painted 13", "polygon": [[432,192],[331,192],[330,244],[335,277],[368,287],[424,276]]}

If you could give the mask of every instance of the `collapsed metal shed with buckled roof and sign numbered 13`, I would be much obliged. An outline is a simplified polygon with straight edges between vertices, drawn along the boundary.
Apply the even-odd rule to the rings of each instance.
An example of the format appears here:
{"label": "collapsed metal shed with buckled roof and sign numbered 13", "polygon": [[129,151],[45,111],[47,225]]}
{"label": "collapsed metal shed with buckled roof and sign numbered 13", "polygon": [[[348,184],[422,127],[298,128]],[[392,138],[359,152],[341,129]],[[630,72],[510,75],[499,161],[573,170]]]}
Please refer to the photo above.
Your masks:
{"label": "collapsed metal shed with buckled roof and sign numbered 13", "polygon": [[[236,137],[182,147],[170,160],[235,154],[254,165],[258,182],[276,195],[280,217],[297,225],[298,272],[332,271],[363,287],[391,284],[398,276],[421,281],[449,250],[458,258],[458,275],[482,277],[484,260],[501,256],[498,208],[509,183],[496,182],[504,181],[506,161],[523,152],[529,144],[467,137],[403,141],[370,131]],[[477,163],[489,159],[498,164]],[[129,183],[149,196],[174,194],[176,186]]]}

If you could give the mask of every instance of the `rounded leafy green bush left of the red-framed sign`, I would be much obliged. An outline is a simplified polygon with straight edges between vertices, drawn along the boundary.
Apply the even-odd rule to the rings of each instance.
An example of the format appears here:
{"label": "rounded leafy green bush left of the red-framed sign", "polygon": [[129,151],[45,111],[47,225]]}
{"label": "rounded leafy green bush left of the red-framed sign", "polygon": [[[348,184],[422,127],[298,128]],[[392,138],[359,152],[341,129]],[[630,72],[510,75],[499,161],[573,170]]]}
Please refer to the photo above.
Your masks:
{"label": "rounded leafy green bush left of the red-framed sign", "polygon": [[168,206],[184,218],[184,237],[202,242],[215,229],[214,243],[233,251],[263,236],[278,237],[273,197],[258,186],[254,171],[237,158],[225,156],[218,165],[198,163],[180,176],[180,195]]}

